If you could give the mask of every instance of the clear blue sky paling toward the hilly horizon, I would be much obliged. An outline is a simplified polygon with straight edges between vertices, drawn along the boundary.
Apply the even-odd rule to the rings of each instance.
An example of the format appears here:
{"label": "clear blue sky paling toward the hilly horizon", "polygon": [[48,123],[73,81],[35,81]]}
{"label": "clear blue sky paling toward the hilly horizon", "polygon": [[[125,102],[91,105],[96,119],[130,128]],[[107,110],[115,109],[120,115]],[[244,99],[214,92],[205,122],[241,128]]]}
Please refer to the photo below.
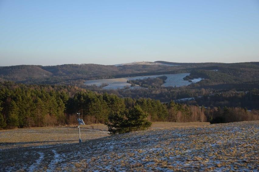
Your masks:
{"label": "clear blue sky paling toward the hilly horizon", "polygon": [[0,0],[0,66],[258,59],[258,0]]}

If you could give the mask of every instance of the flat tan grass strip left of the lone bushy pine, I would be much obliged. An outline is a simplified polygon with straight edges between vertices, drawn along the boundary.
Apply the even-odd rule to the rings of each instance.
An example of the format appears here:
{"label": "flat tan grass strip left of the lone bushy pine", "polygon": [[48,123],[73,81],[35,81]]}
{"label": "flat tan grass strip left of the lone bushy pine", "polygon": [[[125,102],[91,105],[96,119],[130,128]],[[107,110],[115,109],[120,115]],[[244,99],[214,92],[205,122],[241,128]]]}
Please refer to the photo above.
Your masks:
{"label": "flat tan grass strip left of the lone bushy pine", "polygon": [[[78,126],[35,127],[0,131],[0,150],[13,147],[29,147],[40,145],[57,145],[77,143]],[[109,136],[103,124],[80,126],[82,141]]]}

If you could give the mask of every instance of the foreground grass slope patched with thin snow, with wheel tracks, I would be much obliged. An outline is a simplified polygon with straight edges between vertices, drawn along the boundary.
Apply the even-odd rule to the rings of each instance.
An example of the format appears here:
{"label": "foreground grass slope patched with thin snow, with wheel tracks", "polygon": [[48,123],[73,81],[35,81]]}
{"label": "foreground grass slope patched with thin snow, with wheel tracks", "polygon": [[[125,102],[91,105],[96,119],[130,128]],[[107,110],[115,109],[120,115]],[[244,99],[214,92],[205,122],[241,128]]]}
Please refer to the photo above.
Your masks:
{"label": "foreground grass slope patched with thin snow, with wheel tracks", "polygon": [[[9,155],[0,170],[258,171],[258,131],[259,121],[149,129],[40,151],[19,149],[23,156]],[[36,150],[40,156],[22,161]],[[0,155],[0,165],[6,156]]]}

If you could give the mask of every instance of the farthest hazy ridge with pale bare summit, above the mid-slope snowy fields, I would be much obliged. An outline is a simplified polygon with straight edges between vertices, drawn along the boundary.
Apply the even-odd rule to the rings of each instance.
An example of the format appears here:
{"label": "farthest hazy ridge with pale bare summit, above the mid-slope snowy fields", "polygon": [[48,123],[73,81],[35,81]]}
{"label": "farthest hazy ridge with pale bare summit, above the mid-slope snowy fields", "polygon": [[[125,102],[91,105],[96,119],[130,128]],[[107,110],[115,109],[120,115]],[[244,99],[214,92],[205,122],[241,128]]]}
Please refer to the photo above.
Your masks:
{"label": "farthest hazy ridge with pale bare summit, above the mid-slope snowy fields", "polygon": [[[17,65],[0,67],[1,80],[27,84],[83,84],[85,80],[110,79],[158,74],[186,73],[196,70],[219,70],[231,81],[258,79],[259,62],[247,63],[174,63],[142,61],[120,65],[66,64],[56,66]],[[204,71],[196,72],[202,75]],[[220,76],[220,74],[219,74]],[[211,76],[210,76],[211,77]],[[245,77],[245,78],[244,78]],[[227,79],[227,78],[226,78]]]}

